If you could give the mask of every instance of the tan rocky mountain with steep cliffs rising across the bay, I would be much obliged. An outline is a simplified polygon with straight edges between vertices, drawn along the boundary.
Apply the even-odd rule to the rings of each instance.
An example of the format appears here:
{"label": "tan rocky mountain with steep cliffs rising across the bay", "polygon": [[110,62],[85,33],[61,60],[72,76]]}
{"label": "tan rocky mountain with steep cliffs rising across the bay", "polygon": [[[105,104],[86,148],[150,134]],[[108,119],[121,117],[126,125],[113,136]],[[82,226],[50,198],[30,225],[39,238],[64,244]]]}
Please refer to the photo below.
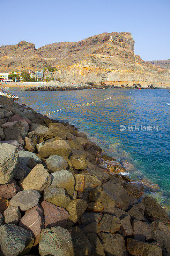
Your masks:
{"label": "tan rocky mountain with steep cliffs rising across the bay", "polygon": [[63,82],[111,87],[170,88],[170,71],[135,55],[129,32],[103,33],[79,42],[35,48],[22,41],[0,47],[0,72],[55,67]]}

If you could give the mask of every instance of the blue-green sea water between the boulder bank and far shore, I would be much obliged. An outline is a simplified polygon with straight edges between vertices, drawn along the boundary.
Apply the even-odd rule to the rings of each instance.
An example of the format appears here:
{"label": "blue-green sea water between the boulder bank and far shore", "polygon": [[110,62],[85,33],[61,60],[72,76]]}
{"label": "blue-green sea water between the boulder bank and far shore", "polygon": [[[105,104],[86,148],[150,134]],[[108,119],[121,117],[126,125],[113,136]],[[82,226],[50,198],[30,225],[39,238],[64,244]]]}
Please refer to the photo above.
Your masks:
{"label": "blue-green sea water between the boulder bank and far shore", "polygon": [[[168,90],[85,89],[15,91],[20,103],[75,124],[103,152],[122,161],[128,177],[148,185],[146,193],[170,205],[170,93]],[[147,93],[149,92],[149,93]],[[111,98],[109,98],[111,97]],[[104,100],[109,98],[108,100]],[[102,100],[102,101],[99,101]],[[92,104],[69,108],[94,101]],[[59,109],[61,111],[57,111]],[[54,112],[55,111],[55,112]],[[50,114],[49,114],[50,113]],[[124,125],[124,126],[122,126]],[[120,131],[125,129],[124,131]]]}

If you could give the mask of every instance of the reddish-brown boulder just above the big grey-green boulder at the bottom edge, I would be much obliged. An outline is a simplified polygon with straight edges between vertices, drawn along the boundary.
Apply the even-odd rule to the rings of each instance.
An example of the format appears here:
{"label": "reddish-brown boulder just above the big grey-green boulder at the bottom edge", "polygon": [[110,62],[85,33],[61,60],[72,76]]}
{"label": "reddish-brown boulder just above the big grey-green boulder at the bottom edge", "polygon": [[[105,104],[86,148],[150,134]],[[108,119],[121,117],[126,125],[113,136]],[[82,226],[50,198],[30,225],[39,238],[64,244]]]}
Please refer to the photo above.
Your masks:
{"label": "reddish-brown boulder just above the big grey-green boulder at the bottom edge", "polygon": [[63,227],[65,228],[69,213],[62,207],[55,206],[47,201],[41,202],[44,215],[44,227]]}

